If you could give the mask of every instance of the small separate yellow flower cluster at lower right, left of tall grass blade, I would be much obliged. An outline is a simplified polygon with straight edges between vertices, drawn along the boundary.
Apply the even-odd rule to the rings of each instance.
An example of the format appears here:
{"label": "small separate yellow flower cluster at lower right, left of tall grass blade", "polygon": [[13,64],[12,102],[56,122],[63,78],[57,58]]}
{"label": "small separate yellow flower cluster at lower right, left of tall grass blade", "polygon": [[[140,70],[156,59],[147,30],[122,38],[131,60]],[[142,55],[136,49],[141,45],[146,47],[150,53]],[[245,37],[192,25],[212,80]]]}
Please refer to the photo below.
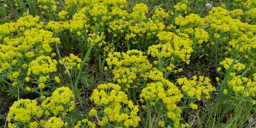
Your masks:
{"label": "small separate yellow flower cluster at lower right, left of tall grass blade", "polygon": [[215,91],[215,87],[210,83],[211,79],[204,76],[193,76],[193,79],[188,80],[186,77],[178,78],[177,82],[181,85],[181,89],[185,92],[188,97],[194,98],[197,100],[201,100],[201,97],[205,97],[205,99],[210,99],[210,93]]}

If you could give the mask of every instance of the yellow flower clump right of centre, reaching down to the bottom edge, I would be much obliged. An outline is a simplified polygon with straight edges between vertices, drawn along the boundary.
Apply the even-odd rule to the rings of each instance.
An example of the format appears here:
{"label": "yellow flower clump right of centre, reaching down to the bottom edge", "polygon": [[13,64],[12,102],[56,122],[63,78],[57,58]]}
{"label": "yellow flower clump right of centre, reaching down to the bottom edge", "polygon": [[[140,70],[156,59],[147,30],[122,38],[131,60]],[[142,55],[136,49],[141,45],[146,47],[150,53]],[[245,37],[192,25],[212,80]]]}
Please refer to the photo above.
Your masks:
{"label": "yellow flower clump right of centre, reaching down to the bottom edge", "polygon": [[[157,74],[155,74],[155,73]],[[150,106],[156,106],[163,103],[163,111],[160,114],[167,115],[172,119],[173,126],[179,127],[181,121],[181,109],[177,106],[177,103],[183,97],[183,94],[173,83],[163,78],[161,71],[150,71],[149,79],[155,81],[154,83],[148,83],[144,87],[140,94],[140,101],[149,102]],[[156,113],[157,116],[159,113]]]}

